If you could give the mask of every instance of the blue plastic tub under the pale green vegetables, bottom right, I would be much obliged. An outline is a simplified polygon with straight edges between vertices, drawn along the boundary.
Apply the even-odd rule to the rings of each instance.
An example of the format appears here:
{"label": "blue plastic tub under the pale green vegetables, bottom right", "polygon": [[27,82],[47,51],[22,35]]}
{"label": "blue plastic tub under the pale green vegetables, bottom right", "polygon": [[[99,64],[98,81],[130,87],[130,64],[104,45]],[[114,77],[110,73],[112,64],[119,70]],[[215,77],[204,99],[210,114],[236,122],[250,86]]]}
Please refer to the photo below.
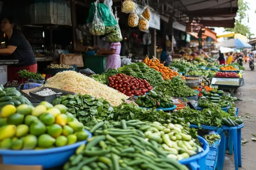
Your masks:
{"label": "blue plastic tub under the pale green vegetables, bottom right", "polygon": [[180,164],[186,165],[190,170],[206,170],[206,167],[207,167],[206,158],[209,153],[209,144],[201,136],[198,136],[198,139],[201,143],[203,143],[204,151],[194,156],[191,156],[187,159],[182,159],[179,161]]}

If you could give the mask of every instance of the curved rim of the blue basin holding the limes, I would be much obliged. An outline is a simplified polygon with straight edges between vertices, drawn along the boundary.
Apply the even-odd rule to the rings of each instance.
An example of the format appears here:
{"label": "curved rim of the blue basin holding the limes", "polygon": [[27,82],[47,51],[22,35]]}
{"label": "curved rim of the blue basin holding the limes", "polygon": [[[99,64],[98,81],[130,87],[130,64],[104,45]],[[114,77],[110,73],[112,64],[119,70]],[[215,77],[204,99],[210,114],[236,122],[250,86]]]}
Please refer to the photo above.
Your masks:
{"label": "curved rim of the blue basin holding the limes", "polygon": [[[87,139],[90,139],[92,137],[92,133],[90,133],[90,131],[88,131],[88,130],[84,130],[84,131],[86,131],[89,134]],[[55,148],[50,148],[50,149],[44,149],[44,150],[1,150],[0,149],[0,155],[2,155],[2,156],[5,156],[5,155],[23,156],[23,155],[44,155],[44,154],[49,154],[49,153],[64,152],[66,150],[70,150],[70,149],[79,147],[81,144],[86,143],[87,139],[84,141],[76,142],[71,145],[55,147]]]}

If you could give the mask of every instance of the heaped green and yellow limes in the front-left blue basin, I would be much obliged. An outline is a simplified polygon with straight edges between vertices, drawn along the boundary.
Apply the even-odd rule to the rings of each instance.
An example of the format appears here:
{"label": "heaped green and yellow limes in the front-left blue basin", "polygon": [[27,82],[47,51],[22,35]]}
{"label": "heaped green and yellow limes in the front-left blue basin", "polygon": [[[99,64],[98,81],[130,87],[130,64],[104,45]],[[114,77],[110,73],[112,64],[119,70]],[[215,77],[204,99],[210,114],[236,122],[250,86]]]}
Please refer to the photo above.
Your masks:
{"label": "heaped green and yellow limes in the front-left blue basin", "polygon": [[64,105],[6,105],[0,113],[0,149],[41,150],[86,140],[88,133]]}

